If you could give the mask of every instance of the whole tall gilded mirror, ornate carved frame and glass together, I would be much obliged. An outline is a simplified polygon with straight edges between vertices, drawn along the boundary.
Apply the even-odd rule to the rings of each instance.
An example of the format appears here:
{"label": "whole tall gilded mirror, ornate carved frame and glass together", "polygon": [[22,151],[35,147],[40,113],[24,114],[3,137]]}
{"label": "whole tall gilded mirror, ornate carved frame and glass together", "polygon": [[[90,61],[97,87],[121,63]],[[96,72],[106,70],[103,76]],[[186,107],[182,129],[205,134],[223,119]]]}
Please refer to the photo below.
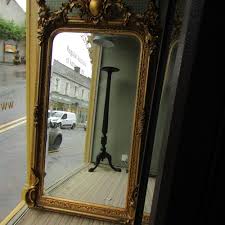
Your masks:
{"label": "whole tall gilded mirror, ornate carved frame and glass together", "polygon": [[38,0],[40,71],[31,207],[131,224],[138,187],[152,1]]}

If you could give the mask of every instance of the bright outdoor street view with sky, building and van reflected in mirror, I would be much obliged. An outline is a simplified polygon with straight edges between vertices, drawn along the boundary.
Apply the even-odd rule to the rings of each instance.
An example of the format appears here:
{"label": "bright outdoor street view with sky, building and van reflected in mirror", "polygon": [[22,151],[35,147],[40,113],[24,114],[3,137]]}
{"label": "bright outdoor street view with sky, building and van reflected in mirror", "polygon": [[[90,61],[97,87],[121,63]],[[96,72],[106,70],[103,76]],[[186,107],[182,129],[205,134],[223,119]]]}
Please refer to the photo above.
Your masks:
{"label": "bright outdoor street view with sky, building and van reflected in mirror", "polygon": [[[85,129],[91,84],[87,38],[88,35],[61,33],[53,42],[46,146],[46,190],[84,164]],[[76,53],[78,48],[79,54]]]}

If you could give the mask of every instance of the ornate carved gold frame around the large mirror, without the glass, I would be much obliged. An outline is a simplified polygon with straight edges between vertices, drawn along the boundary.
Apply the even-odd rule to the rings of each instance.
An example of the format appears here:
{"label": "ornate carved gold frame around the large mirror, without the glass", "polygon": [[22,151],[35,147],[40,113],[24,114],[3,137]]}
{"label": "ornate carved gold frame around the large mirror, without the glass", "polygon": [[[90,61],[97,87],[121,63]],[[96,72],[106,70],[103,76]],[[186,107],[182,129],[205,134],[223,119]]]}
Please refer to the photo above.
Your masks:
{"label": "ornate carved gold frame around the large mirror, without the glass", "polygon": [[[38,39],[40,44],[40,66],[38,80],[38,100],[34,108],[35,151],[30,187],[25,200],[30,207],[63,211],[92,218],[104,219],[122,224],[132,224],[138,190],[138,168],[140,146],[145,123],[145,98],[150,55],[156,49],[159,20],[152,1],[145,13],[136,14],[129,10],[122,0],[68,0],[57,11],[51,12],[45,0],[37,0],[39,7]],[[69,16],[73,9],[80,15]],[[116,12],[116,17],[115,13]],[[45,143],[52,41],[61,31],[98,32],[107,34],[132,35],[141,43],[140,65],[136,95],[135,120],[129,165],[127,202],[125,208],[115,208],[78,201],[70,201],[43,195]],[[148,217],[144,217],[149,219]]]}

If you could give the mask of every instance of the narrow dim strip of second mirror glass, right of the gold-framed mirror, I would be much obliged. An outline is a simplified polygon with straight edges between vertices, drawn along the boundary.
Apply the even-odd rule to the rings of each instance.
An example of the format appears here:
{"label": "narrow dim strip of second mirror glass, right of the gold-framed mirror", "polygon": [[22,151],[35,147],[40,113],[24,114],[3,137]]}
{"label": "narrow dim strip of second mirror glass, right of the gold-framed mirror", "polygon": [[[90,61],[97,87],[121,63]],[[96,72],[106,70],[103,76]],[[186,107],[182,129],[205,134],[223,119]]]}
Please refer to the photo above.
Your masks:
{"label": "narrow dim strip of second mirror glass, right of the gold-framed mirror", "polygon": [[177,42],[171,47],[168,57],[166,73],[163,83],[162,95],[159,106],[159,115],[156,126],[156,135],[153,146],[149,180],[145,198],[145,213],[150,213],[153,193],[155,188],[155,178],[159,173],[161,156],[167,145],[173,103],[176,93],[177,77],[174,73],[175,60],[177,56]]}

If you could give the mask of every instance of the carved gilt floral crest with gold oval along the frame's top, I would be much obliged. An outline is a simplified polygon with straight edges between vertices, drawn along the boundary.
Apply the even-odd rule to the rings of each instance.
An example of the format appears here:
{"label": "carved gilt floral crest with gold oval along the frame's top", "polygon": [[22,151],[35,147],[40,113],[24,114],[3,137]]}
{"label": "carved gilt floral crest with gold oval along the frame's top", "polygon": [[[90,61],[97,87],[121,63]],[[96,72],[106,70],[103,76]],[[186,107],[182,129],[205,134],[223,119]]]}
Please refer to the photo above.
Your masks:
{"label": "carved gilt floral crest with gold oval along the frame's top", "polygon": [[[38,38],[42,44],[46,35],[66,25],[68,14],[73,9],[79,10],[79,19],[89,24],[101,26],[108,22],[119,21],[121,29],[132,27],[144,33],[145,42],[154,49],[159,34],[159,16],[153,0],[143,14],[132,12],[123,0],[68,0],[59,10],[51,12],[45,0],[37,0],[39,6]],[[118,27],[117,27],[118,28]]]}

